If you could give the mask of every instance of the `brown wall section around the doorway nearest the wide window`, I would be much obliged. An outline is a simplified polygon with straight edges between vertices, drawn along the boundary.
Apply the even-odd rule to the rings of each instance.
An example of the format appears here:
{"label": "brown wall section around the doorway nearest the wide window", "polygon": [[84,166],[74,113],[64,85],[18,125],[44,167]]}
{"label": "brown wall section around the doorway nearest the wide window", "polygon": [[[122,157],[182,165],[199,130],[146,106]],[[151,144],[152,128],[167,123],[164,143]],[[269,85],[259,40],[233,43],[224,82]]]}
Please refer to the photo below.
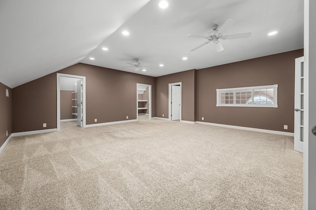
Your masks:
{"label": "brown wall section around the doorway nearest the wide window", "polygon": [[182,82],[182,120],[195,121],[195,71],[187,70],[156,77],[157,117],[168,118],[169,83]]}

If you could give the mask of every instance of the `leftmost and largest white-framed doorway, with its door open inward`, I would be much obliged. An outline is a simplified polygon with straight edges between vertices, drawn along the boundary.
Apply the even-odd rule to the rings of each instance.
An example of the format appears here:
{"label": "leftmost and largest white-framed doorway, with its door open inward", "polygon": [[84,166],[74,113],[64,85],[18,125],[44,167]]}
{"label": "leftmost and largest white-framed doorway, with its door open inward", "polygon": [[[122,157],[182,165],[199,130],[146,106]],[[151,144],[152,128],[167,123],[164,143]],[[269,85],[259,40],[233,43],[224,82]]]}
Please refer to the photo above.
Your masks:
{"label": "leftmost and largest white-framed doorway, with its door open inward", "polygon": [[60,122],[85,127],[85,76],[57,73],[57,131]]}

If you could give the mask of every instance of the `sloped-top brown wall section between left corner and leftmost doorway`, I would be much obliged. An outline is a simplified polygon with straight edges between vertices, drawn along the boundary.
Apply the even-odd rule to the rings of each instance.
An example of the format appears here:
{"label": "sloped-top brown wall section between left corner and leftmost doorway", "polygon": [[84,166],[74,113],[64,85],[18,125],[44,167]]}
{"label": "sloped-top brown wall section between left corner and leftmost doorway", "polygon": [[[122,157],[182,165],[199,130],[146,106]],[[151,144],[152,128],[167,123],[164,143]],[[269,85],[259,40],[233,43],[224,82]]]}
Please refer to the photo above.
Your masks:
{"label": "sloped-top brown wall section between left corner and leftmost doorway", "polygon": [[[12,95],[13,133],[57,127],[56,74],[15,87]],[[46,123],[46,128],[43,128],[43,123]]]}

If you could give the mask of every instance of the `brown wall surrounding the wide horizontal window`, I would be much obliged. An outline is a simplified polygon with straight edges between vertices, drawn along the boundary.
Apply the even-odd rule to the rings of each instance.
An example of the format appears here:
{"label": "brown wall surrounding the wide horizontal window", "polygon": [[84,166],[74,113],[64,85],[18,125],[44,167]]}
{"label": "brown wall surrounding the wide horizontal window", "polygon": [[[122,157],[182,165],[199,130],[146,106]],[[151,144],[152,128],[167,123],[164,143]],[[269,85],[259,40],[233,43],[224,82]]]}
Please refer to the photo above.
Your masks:
{"label": "brown wall surrounding the wide horizontal window", "polygon": [[[197,70],[197,121],[293,133],[295,58],[301,56],[303,49]],[[273,84],[277,108],[216,106],[217,88]]]}

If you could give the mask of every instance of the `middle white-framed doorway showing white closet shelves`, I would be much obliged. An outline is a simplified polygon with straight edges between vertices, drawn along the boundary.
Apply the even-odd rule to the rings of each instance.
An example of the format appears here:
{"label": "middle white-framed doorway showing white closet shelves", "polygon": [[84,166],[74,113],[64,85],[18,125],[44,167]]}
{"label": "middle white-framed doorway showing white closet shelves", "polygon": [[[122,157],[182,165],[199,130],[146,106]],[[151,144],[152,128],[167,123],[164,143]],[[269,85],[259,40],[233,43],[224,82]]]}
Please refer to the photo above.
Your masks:
{"label": "middle white-framed doorway showing white closet shelves", "polygon": [[136,99],[137,99],[136,100],[137,120],[138,120],[139,115],[145,115],[145,116],[148,116],[148,119],[151,119],[152,118],[152,85],[137,83],[137,98]]}

